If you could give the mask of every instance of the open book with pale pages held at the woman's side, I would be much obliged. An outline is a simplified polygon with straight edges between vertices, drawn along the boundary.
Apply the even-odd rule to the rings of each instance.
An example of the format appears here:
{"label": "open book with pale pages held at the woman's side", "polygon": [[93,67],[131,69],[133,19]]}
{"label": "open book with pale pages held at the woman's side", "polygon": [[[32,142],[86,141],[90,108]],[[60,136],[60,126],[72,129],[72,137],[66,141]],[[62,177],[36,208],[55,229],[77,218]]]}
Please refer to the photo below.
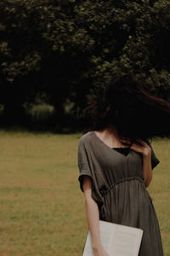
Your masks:
{"label": "open book with pale pages held at the woman's side", "polygon": [[[138,256],[143,230],[99,219],[100,237],[110,256]],[[90,230],[82,256],[94,256]]]}

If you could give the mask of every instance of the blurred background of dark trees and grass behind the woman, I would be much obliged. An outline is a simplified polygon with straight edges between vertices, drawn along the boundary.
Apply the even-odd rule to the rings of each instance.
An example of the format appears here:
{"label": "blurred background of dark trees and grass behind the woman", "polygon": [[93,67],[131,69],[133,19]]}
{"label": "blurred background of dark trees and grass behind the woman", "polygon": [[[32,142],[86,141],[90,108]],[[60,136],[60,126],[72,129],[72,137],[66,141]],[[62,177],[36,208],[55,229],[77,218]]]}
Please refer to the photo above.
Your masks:
{"label": "blurred background of dark trees and grass behind the woman", "polygon": [[[83,108],[129,70],[170,102],[169,25],[168,0],[0,2],[1,256],[82,255]],[[149,190],[169,256],[170,140],[153,148],[161,163]]]}

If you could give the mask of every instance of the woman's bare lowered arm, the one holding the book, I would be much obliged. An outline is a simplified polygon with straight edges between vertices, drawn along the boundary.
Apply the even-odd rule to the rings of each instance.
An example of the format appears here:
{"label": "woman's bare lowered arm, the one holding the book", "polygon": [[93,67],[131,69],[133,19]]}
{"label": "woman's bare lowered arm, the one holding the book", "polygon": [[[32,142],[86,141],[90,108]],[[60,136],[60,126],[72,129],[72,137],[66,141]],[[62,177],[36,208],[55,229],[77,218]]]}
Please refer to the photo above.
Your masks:
{"label": "woman's bare lowered arm, the one holding the book", "polygon": [[94,256],[109,256],[109,254],[105,252],[101,244],[99,234],[99,208],[96,201],[94,201],[94,199],[92,198],[92,183],[90,177],[83,177],[82,188],[85,196],[86,215],[88,219],[88,227],[92,238]]}

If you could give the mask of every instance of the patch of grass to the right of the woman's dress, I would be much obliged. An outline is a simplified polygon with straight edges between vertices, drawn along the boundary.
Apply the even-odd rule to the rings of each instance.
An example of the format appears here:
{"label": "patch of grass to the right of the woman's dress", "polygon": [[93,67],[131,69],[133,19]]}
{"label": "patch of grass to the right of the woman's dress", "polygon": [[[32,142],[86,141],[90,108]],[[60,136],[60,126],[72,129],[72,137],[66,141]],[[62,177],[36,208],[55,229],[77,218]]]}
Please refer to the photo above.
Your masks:
{"label": "patch of grass to the right of the woman's dress", "polygon": [[170,256],[170,140],[159,139],[152,144],[160,164],[153,170],[148,190],[159,219],[164,253]]}

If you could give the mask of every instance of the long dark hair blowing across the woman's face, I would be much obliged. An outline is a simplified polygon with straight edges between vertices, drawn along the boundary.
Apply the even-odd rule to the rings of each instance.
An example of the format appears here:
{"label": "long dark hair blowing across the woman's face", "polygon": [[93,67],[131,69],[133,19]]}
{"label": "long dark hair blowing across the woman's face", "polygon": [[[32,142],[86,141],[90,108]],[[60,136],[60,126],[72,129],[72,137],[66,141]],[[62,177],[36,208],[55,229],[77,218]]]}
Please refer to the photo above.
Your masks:
{"label": "long dark hair blowing across the woman's face", "polygon": [[140,138],[170,137],[170,103],[151,95],[148,84],[133,74],[115,74],[106,84],[102,96],[88,100],[90,125],[87,131],[104,130],[111,124],[119,138],[131,143]]}

